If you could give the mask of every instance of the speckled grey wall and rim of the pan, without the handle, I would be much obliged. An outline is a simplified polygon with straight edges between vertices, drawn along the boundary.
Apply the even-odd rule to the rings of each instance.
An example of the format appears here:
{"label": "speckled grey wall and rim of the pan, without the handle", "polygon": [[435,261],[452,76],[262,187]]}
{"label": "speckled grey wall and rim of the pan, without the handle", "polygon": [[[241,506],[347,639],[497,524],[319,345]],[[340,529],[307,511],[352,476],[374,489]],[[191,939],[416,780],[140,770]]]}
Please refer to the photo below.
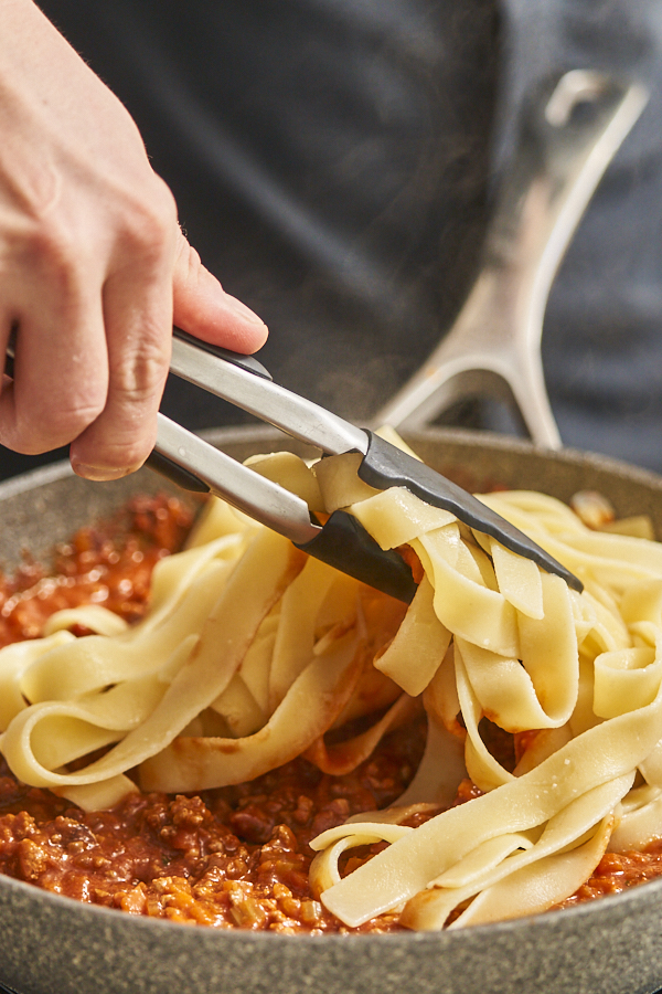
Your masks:
{"label": "speckled grey wall and rim of the pan, without the handle", "polygon": [[[265,430],[227,431],[245,457],[279,447]],[[599,489],[619,515],[649,512],[662,535],[662,479],[608,459],[460,432],[416,440],[437,467],[567,498]],[[145,472],[92,485],[63,468],[0,487],[0,557],[36,554],[130,493]],[[319,939],[216,932],[134,919],[0,878],[0,981],[22,994],[652,994],[662,986],[662,881],[572,911],[441,934]]]}

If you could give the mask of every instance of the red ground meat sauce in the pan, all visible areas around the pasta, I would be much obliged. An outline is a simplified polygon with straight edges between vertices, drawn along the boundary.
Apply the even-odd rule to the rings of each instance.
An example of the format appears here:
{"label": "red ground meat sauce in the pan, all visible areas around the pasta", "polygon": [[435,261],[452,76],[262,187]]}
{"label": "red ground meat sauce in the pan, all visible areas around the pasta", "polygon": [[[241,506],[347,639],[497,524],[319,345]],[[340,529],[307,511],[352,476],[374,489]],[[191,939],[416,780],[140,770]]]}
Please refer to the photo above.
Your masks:
{"label": "red ground meat sauce in the pan, all visible areas around the pasta", "polygon": [[[180,501],[141,497],[110,525],[78,532],[56,550],[55,570],[26,561],[0,578],[0,646],[38,637],[62,607],[102,603],[127,621],[146,610],[151,570],[191,525]],[[78,635],[86,634],[84,630]],[[492,752],[514,763],[517,743],[481,728]],[[345,776],[303,759],[239,786],[200,796],[134,794],[113,811],[83,812],[49,791],[17,783],[0,758],[0,871],[77,900],[132,914],[215,928],[284,933],[389,932],[386,914],[348,929],[310,892],[308,843],[350,815],[393,802],[420,760],[425,725],[388,736]],[[455,803],[480,795],[470,781]],[[430,814],[416,815],[416,826]],[[348,855],[348,873],[385,844]],[[607,854],[559,907],[615,893],[662,875],[662,843],[645,853]]]}

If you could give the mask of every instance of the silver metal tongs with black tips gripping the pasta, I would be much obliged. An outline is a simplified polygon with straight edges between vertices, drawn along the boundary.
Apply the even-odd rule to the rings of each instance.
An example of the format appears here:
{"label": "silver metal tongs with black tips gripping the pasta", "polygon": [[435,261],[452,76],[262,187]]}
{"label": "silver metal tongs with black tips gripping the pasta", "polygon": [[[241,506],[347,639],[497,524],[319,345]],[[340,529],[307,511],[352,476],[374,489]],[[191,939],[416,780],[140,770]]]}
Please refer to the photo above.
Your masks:
{"label": "silver metal tongs with black tips gripping the pasta", "polygon": [[[532,559],[573,586],[581,583],[526,535],[471,494],[435,473],[378,435],[356,427],[324,408],[274,383],[253,357],[228,352],[174,329],[171,371],[229,401],[249,414],[314,447],[324,455],[360,453],[360,478],[377,490],[406,487],[426,504],[456,517]],[[149,463],[189,490],[210,491],[298,548],[371,586],[408,603],[416,592],[412,571],[396,551],[383,551],[360,522],[343,510],[321,524],[300,497],[214,448],[177,422],[159,414]]]}

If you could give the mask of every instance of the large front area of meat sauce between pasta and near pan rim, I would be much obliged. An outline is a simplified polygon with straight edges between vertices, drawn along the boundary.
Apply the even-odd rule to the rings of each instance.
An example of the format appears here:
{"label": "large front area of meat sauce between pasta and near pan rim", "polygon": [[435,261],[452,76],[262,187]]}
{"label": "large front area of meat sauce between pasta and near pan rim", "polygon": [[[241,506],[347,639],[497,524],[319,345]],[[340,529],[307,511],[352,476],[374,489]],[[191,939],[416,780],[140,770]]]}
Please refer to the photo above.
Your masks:
{"label": "large front area of meat sauce between pasta and near pan rim", "polygon": [[[342,778],[296,760],[202,796],[135,794],[113,811],[0,776],[0,870],[137,914],[278,932],[349,931],[310,893],[308,842],[395,800],[419,762],[423,725],[396,732]],[[370,858],[367,852],[364,858]],[[398,928],[395,916],[359,931]]]}

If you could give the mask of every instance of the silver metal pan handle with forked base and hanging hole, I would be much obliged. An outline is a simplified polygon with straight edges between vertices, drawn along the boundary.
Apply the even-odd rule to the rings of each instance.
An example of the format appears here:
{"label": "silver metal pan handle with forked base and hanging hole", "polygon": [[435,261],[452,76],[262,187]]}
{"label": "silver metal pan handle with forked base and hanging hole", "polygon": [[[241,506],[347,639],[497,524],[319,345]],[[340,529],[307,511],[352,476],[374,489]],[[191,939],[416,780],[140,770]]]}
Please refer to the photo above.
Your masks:
{"label": "silver metal pan handle with forked base and hanging hole", "polygon": [[639,83],[574,70],[523,115],[483,266],[450,331],[377,424],[419,430],[451,403],[514,404],[531,438],[559,448],[541,361],[543,318],[565,251],[607,166],[648,102]]}

